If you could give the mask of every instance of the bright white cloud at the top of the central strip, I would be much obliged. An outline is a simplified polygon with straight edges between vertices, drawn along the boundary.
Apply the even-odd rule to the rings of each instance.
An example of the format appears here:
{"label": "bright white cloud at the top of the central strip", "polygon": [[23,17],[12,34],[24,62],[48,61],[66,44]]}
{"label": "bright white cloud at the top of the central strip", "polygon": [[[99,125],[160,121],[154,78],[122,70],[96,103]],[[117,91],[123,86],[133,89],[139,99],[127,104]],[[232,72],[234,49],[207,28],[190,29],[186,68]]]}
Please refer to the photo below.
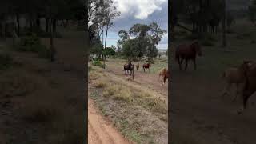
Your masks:
{"label": "bright white cloud at the top of the central strip", "polygon": [[137,19],[146,19],[155,10],[162,10],[162,3],[167,0],[114,0],[115,6],[121,12],[121,17],[133,16]]}

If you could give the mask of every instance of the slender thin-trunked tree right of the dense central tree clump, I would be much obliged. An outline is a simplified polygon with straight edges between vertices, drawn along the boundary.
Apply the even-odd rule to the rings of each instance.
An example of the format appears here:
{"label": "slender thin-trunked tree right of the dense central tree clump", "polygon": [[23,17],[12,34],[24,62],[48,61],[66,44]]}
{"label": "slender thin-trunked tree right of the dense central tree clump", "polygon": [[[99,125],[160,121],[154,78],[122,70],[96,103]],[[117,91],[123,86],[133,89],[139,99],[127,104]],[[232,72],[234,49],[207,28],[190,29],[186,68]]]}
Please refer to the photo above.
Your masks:
{"label": "slender thin-trunked tree right of the dense central tree clump", "polygon": [[[162,30],[160,26],[158,26],[158,23],[152,22],[150,24],[150,32],[153,37],[153,42],[158,46],[159,42],[162,39],[162,36],[167,33],[166,30]],[[159,63],[159,47],[158,47],[158,63]]]}

